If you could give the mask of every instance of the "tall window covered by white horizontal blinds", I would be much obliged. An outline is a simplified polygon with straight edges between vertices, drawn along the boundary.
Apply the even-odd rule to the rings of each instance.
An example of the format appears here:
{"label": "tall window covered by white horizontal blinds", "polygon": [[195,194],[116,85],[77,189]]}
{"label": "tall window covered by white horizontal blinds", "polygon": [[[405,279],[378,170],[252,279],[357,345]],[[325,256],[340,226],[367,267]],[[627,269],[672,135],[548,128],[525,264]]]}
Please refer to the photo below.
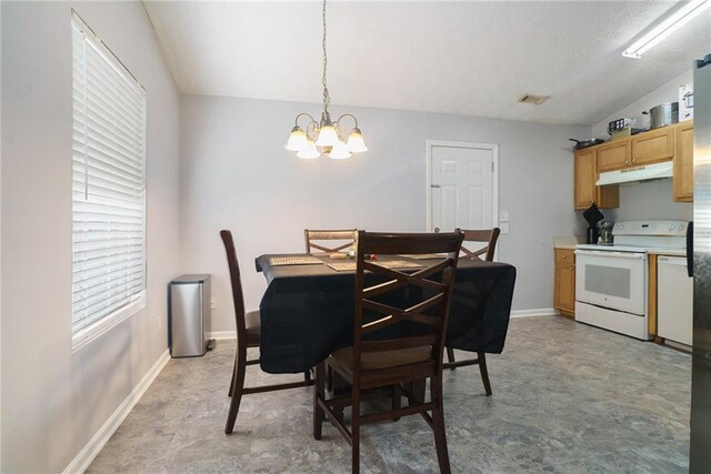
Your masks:
{"label": "tall window covered by white horizontal blinds", "polygon": [[146,91],[72,17],[72,346],[146,304]]}

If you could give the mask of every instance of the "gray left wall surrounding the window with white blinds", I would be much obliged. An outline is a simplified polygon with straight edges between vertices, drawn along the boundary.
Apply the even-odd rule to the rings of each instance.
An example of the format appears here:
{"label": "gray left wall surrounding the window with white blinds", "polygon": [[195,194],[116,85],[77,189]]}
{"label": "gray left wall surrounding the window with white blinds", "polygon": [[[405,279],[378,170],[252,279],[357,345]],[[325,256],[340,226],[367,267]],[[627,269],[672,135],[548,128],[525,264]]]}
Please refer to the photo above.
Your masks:
{"label": "gray left wall surrounding the window with white blinds", "polygon": [[[71,350],[71,9],[148,91],[148,305]],[[167,349],[179,104],[141,2],[2,2],[2,472],[61,472]]]}

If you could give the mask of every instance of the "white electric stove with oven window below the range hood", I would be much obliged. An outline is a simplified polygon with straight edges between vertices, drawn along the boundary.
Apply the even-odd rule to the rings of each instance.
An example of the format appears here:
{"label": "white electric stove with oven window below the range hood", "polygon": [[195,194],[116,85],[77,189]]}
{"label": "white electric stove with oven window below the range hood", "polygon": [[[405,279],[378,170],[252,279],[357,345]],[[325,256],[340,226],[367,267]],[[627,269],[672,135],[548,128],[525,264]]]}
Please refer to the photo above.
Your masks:
{"label": "white electric stove with oven window below the range hood", "polygon": [[627,221],[612,228],[612,245],[575,245],[575,320],[650,340],[650,250],[684,250],[689,223]]}

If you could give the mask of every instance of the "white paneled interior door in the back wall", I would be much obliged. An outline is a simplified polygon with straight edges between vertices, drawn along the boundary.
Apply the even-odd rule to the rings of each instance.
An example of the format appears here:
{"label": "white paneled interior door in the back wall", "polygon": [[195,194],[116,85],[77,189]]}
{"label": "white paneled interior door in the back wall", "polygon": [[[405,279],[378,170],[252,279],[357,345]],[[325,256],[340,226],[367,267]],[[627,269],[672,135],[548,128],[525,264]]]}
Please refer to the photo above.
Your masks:
{"label": "white paneled interior door in the back wall", "polygon": [[428,142],[428,230],[498,226],[498,145]]}

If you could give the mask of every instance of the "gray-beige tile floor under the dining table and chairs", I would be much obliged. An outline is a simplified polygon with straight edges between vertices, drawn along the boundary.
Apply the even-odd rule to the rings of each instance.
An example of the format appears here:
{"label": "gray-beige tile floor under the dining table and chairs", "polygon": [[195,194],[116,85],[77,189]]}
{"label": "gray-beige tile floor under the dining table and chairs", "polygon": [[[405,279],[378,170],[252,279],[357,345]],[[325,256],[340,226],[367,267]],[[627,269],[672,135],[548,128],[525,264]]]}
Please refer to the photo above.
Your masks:
{"label": "gray-beige tile floor under the dining table and chairs", "polygon": [[[247,395],[224,435],[233,351],[218,341],[204,357],[171,360],[88,472],[349,472],[336,428],[311,435],[310,389]],[[544,316],[512,320],[488,363],[490,397],[475,366],[444,376],[452,472],[688,471],[690,355]],[[282,379],[256,366],[247,377]],[[419,416],[364,427],[361,446],[362,472],[438,472]]]}

